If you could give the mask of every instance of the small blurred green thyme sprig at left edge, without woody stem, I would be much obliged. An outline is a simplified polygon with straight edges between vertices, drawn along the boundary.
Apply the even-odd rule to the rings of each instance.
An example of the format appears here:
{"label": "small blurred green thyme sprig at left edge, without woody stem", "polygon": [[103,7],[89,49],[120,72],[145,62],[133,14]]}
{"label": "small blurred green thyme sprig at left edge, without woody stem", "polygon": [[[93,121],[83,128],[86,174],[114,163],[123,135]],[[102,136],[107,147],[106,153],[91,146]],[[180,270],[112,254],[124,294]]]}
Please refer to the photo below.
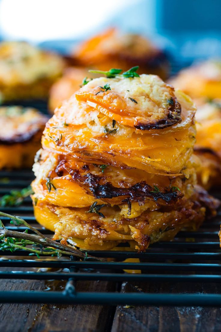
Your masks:
{"label": "small blurred green thyme sprig at left edge, without woody stem", "polygon": [[0,206],[19,206],[23,203],[24,199],[33,194],[33,190],[30,186],[27,188],[19,190],[11,190],[9,194],[2,196],[0,199]]}

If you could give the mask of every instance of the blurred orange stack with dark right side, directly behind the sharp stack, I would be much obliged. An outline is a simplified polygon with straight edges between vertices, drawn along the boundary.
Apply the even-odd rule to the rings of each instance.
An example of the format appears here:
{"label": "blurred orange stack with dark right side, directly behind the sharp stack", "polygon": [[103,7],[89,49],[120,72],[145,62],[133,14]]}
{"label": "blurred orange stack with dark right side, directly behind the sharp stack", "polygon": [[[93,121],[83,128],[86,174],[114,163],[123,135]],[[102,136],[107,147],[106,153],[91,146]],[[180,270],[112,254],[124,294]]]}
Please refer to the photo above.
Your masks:
{"label": "blurred orange stack with dark right side, directly behind the sharp stack", "polygon": [[168,76],[169,63],[164,52],[141,35],[121,34],[110,28],[84,41],[73,51],[77,66],[100,70],[121,68],[128,70],[139,65],[138,73]]}

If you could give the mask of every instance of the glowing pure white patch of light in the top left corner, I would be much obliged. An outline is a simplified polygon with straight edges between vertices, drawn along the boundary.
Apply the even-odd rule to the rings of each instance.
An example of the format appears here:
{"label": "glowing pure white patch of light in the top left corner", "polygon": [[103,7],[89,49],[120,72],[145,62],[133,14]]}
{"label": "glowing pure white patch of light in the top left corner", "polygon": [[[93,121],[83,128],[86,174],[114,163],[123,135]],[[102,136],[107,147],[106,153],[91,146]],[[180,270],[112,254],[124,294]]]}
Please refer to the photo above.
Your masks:
{"label": "glowing pure white patch of light in the top left corner", "polygon": [[1,34],[6,39],[33,42],[81,38],[135,2],[1,0]]}

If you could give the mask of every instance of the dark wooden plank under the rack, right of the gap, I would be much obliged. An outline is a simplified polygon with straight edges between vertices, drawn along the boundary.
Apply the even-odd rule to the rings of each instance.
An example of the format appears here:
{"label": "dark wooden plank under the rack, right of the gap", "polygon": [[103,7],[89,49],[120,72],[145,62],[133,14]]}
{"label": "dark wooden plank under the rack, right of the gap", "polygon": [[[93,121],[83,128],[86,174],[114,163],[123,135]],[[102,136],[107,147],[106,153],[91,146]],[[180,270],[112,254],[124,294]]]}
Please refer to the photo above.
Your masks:
{"label": "dark wooden plank under the rack, right of the gap", "polygon": [[[123,283],[122,292],[220,293],[219,284]],[[130,305],[130,303],[128,303]],[[221,309],[210,307],[117,306],[111,332],[221,331]]]}

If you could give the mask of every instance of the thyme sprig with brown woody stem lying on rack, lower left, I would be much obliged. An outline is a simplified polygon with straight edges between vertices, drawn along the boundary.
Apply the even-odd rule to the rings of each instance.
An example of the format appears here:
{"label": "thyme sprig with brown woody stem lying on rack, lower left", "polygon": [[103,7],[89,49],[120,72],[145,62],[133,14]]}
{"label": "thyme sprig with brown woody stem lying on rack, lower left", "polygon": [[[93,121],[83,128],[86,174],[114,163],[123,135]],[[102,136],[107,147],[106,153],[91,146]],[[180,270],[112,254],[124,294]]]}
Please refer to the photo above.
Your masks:
{"label": "thyme sprig with brown woody stem lying on rack, lower left", "polygon": [[[16,250],[26,250],[30,256],[37,256],[40,258],[42,255],[50,255],[61,257],[62,255],[76,256],[82,260],[100,260],[104,259],[96,258],[88,254],[84,254],[80,250],[75,249],[73,246],[65,245],[60,242],[51,240],[42,235],[37,229],[30,226],[21,217],[4,213],[0,211],[0,216],[11,218],[11,223],[15,225],[25,225],[28,229],[32,230],[34,234],[28,234],[28,229],[25,232],[11,231],[5,228],[4,224],[0,220],[0,250],[10,250],[14,252]],[[31,247],[27,247],[31,246]]]}

